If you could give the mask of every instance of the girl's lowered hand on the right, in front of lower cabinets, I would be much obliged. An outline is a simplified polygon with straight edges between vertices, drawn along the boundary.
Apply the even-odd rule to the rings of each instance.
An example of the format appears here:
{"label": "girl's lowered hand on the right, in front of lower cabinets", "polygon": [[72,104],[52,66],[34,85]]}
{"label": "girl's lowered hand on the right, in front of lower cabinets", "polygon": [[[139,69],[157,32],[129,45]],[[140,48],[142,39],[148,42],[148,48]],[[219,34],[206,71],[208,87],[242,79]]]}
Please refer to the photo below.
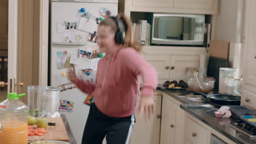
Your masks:
{"label": "girl's lowered hand on the right, in front of lower cabinets", "polygon": [[139,121],[145,113],[145,121],[148,122],[150,115],[154,113],[154,99],[151,97],[141,97],[141,103],[139,104]]}

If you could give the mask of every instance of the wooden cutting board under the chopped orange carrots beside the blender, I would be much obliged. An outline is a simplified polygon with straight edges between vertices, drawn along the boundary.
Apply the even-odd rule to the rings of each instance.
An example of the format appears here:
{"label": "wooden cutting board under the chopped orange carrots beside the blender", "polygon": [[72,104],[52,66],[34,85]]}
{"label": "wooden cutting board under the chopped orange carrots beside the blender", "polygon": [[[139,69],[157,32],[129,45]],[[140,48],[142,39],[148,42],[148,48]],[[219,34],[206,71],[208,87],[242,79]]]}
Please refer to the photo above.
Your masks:
{"label": "wooden cutting board under the chopped orange carrots beside the blender", "polygon": [[48,122],[56,123],[55,126],[48,125],[46,130],[48,133],[44,134],[44,136],[28,136],[28,141],[31,140],[59,140],[68,142],[68,135],[65,125],[62,121],[61,117],[48,117]]}

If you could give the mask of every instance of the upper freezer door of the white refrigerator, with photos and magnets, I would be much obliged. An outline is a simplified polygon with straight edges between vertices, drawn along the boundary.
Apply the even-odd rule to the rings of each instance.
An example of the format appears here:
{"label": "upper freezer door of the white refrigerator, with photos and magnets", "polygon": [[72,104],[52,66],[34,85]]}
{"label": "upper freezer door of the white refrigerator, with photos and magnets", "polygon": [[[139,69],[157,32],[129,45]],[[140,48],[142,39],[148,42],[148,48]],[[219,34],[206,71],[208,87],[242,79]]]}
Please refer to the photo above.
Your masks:
{"label": "upper freezer door of the white refrigerator, with photos and magnets", "polygon": [[[117,15],[117,8],[117,3],[52,2],[51,43],[85,43],[89,33],[78,30],[80,17],[90,19],[90,23],[95,22],[93,29],[97,31],[99,21],[96,19],[104,17],[102,11],[109,10],[110,15]],[[81,9],[85,12],[82,13]]]}

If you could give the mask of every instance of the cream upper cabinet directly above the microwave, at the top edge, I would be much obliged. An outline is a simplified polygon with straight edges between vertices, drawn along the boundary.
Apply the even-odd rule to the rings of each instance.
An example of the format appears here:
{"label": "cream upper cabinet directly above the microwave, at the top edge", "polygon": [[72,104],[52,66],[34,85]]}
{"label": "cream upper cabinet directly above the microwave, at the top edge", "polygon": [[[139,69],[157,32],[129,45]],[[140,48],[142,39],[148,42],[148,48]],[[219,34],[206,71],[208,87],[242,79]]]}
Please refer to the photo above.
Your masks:
{"label": "cream upper cabinet directly above the microwave, at the top edge", "polygon": [[[123,0],[124,1],[124,0]],[[125,0],[125,11],[217,14],[218,0]]]}

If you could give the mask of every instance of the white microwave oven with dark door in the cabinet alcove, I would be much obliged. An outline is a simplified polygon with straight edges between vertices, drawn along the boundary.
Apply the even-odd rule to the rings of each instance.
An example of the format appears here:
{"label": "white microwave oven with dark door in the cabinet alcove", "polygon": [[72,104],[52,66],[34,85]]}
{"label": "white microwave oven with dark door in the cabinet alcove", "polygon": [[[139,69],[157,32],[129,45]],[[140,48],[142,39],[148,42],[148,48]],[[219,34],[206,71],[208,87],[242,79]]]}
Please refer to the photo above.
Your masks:
{"label": "white microwave oven with dark door in the cabinet alcove", "polygon": [[153,14],[152,44],[203,45],[205,15]]}

